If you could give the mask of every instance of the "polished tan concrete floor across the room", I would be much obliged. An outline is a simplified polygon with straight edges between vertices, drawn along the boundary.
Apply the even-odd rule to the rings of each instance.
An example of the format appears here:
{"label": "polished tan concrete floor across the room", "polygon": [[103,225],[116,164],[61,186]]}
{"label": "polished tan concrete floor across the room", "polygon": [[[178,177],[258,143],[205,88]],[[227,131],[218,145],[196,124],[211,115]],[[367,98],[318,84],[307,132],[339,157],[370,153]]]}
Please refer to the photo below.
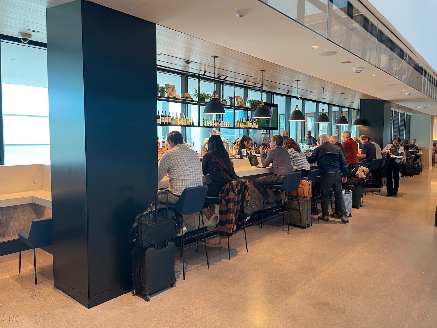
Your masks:
{"label": "polished tan concrete floor across the room", "polygon": [[[271,220],[227,248],[186,251],[186,280],[150,302],[131,293],[90,310],[53,287],[52,257],[0,257],[0,327],[436,327],[436,167],[401,178],[397,198],[368,192],[350,223],[315,220],[288,235]],[[217,239],[212,240],[217,241]],[[227,245],[227,243],[225,243]],[[176,269],[181,269],[177,257]]]}

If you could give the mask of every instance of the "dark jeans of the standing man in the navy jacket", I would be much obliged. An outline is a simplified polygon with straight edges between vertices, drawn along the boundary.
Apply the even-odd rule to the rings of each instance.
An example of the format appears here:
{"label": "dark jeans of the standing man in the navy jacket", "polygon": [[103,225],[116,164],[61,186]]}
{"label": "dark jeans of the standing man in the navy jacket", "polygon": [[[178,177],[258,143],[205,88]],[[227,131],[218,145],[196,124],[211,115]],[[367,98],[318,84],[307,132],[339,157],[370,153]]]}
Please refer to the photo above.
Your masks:
{"label": "dark jeans of the standing man in the navy jacket", "polygon": [[343,193],[341,192],[341,172],[320,173],[322,215],[329,215],[328,197],[329,193],[331,192],[331,188],[333,188],[335,199],[340,206],[338,213],[340,215],[346,215],[346,206],[344,205]]}

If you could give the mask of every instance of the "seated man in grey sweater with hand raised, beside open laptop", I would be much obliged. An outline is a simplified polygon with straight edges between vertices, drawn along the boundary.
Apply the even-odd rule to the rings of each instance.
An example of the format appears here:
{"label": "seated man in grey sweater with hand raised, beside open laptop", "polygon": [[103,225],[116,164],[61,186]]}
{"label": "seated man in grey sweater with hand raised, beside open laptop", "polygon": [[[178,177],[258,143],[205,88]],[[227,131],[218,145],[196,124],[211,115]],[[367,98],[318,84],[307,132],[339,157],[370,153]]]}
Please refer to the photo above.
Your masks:
{"label": "seated man in grey sweater with hand raised, beside open laptop", "polygon": [[[283,141],[284,138],[282,138],[282,136],[275,134],[270,140],[271,149],[264,151],[264,146],[260,146],[261,164],[263,164],[263,167],[267,167],[272,164],[274,172],[273,175],[267,175],[253,180],[253,186],[257,188],[258,192],[260,192],[260,194],[263,196],[264,185],[282,185],[285,179],[288,177],[288,174],[293,172],[293,166],[291,165],[288,150],[282,148]],[[284,205],[281,199],[281,193],[277,190],[273,190],[273,193],[275,199],[273,199],[270,192],[266,190],[266,195],[264,198],[267,200],[267,202],[264,206],[264,209],[268,209],[276,205]]]}

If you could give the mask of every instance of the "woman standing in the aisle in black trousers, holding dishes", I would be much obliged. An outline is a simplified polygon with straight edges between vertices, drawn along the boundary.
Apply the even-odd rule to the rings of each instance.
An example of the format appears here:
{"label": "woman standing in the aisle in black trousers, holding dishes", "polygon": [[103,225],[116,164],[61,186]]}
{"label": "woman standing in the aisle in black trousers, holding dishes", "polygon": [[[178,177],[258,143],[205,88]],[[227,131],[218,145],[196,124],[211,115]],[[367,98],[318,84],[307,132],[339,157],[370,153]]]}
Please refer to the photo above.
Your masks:
{"label": "woman standing in the aisle in black trousers, holding dishes", "polygon": [[[387,172],[387,196],[396,196],[399,189],[399,171],[400,162],[405,160],[405,151],[402,146],[399,145],[401,138],[395,137],[393,143],[389,143],[382,150],[382,154],[387,154],[386,160],[386,172]],[[393,157],[392,157],[393,156]],[[396,158],[400,157],[401,158]]]}

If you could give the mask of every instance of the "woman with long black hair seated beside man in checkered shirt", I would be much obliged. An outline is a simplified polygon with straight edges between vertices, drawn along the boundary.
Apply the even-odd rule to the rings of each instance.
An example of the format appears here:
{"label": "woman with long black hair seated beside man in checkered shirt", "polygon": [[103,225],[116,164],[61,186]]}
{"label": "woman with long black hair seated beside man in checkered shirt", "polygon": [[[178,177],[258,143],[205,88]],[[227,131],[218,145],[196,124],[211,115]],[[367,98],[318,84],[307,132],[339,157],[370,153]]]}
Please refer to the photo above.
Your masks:
{"label": "woman with long black hair seated beside man in checkered shirt", "polygon": [[[211,179],[206,195],[209,197],[218,197],[220,190],[222,190],[229,181],[239,179],[239,176],[235,173],[234,164],[229,159],[229,154],[220,136],[210,136],[208,140],[208,150],[204,146],[203,151],[205,155],[202,159],[202,173],[203,175],[208,174]],[[207,229],[210,231],[214,230],[218,222],[218,215],[215,213],[215,204],[205,202],[202,213],[209,220]]]}

